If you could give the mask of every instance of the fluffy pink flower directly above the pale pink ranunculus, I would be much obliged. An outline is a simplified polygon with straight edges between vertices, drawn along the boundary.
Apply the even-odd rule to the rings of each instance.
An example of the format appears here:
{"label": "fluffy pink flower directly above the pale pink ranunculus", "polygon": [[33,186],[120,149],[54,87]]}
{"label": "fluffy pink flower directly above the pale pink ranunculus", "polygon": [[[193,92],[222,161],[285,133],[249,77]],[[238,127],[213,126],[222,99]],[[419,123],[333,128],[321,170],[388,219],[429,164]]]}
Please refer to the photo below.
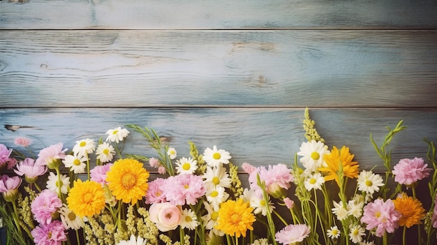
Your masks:
{"label": "fluffy pink flower directly above the pale pink ranunculus", "polygon": [[171,205],[195,205],[206,191],[202,177],[198,175],[172,176],[164,186],[165,198]]}

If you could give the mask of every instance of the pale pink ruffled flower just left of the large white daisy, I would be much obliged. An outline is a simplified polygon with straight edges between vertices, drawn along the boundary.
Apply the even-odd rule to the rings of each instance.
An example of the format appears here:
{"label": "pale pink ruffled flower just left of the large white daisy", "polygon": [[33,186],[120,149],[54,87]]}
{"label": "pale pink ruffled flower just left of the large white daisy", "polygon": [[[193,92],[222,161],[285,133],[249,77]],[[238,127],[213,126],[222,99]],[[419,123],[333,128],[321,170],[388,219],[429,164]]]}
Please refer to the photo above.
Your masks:
{"label": "pale pink ruffled flower just left of the large white daisy", "polygon": [[255,190],[258,196],[262,196],[262,191],[258,186],[257,175],[260,175],[261,181],[265,181],[267,193],[274,198],[282,198],[285,195],[284,190],[288,190],[291,186],[290,183],[294,181],[291,170],[282,163],[273,166],[269,165],[268,169],[264,166],[258,167],[256,171],[249,175],[251,188]]}

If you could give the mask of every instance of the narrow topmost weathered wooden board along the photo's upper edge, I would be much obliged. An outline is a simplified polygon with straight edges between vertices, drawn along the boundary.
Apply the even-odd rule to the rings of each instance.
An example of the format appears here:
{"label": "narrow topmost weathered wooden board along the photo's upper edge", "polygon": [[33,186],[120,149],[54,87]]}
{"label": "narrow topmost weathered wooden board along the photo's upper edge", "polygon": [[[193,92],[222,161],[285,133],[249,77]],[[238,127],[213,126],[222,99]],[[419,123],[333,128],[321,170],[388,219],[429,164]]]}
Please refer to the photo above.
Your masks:
{"label": "narrow topmost weathered wooden board along the photo's upper edge", "polygon": [[0,29],[435,29],[437,2],[0,1]]}

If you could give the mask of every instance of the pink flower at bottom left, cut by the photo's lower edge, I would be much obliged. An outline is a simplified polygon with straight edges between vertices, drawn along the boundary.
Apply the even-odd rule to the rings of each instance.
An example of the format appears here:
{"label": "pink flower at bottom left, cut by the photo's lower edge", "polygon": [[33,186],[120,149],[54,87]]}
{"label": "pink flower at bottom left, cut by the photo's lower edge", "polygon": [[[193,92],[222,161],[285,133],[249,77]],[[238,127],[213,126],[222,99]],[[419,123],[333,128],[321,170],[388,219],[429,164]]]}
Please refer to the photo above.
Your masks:
{"label": "pink flower at bottom left, cut by the photo's lower edge", "polygon": [[64,225],[61,221],[52,221],[38,225],[31,231],[36,245],[61,245],[67,240]]}

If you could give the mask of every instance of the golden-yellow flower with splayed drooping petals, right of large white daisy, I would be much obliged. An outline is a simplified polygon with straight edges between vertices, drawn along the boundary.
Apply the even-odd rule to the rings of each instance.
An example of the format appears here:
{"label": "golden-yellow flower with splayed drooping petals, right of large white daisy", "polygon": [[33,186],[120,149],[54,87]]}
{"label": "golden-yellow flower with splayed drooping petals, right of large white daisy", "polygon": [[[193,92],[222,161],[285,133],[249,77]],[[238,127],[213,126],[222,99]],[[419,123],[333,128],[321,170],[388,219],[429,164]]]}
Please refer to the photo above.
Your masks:
{"label": "golden-yellow flower with splayed drooping petals, right of large white daisy", "polygon": [[349,153],[349,147],[341,147],[341,150],[332,147],[330,154],[323,155],[327,167],[318,168],[320,172],[325,172],[325,181],[335,179],[339,184],[340,164],[343,168],[343,175],[351,179],[358,177],[358,163],[353,162],[353,154]]}

